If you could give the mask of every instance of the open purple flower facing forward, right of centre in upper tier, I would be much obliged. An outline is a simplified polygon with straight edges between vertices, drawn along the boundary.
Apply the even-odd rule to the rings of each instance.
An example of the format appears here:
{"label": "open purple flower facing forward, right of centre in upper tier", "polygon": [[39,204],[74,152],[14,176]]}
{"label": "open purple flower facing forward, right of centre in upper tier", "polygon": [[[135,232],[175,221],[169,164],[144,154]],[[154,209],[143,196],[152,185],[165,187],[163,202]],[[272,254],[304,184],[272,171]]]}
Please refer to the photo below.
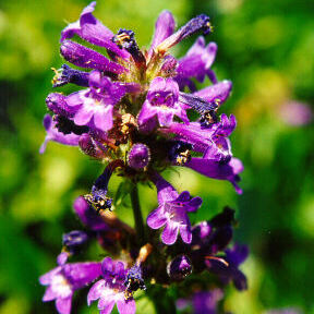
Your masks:
{"label": "open purple flower facing forward, right of centre in upper tier", "polygon": [[154,78],[140,111],[138,123],[144,124],[155,116],[157,116],[160,126],[169,126],[174,116],[189,123],[186,112],[178,98],[179,86],[172,78]]}

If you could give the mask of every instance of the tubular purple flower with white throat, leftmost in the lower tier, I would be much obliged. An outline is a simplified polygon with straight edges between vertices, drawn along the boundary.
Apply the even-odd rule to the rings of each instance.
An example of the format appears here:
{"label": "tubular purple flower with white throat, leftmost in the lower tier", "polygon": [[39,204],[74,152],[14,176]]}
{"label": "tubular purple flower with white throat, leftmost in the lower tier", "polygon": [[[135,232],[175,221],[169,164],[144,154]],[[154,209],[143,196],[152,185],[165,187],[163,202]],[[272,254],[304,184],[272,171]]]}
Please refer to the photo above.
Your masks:
{"label": "tubular purple flower with white throat, leftmost in the lower tier", "polygon": [[56,300],[57,311],[60,314],[70,314],[74,291],[84,288],[100,274],[100,263],[75,263],[58,266],[39,278],[43,286],[48,286],[43,301]]}

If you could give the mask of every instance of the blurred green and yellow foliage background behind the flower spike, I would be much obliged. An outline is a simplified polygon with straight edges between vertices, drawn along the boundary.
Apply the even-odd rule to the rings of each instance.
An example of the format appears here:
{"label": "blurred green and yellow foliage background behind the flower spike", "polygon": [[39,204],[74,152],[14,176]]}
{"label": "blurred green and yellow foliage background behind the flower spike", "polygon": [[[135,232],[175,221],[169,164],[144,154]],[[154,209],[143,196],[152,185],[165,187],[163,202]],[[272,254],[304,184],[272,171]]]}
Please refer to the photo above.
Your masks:
{"label": "blurred green and yellow foliage background behind the flower spike", "polygon": [[[88,191],[102,169],[78,149],[56,143],[48,144],[45,155],[38,154],[45,137],[45,98],[52,90],[50,68],[62,64],[60,32],[87,3],[0,4],[1,314],[55,313],[53,302],[41,303],[45,289],[37,278],[55,267],[62,232],[80,228],[73,200]],[[204,197],[202,210],[191,216],[194,222],[226,205],[237,210],[235,239],[252,252],[242,267],[250,289],[228,289],[226,310],[245,314],[294,307],[314,313],[314,133],[313,123],[293,125],[302,112],[292,102],[313,108],[314,2],[108,0],[98,1],[95,15],[113,32],[134,29],[140,46],[148,47],[164,9],[172,11],[178,25],[195,14],[212,16],[215,33],[207,40],[219,47],[214,70],[219,80],[234,84],[221,111],[238,119],[231,140],[234,156],[245,166],[243,195],[238,196],[228,182],[192,171],[167,173],[179,190]],[[194,39],[176,48],[177,56]],[[118,183],[110,182],[112,195]],[[145,215],[156,205],[155,192],[146,190],[141,194]],[[117,212],[133,224],[125,206]],[[85,305],[85,295],[86,291],[74,301],[82,305],[80,313],[96,313]],[[150,313],[145,306],[140,304],[138,312]]]}

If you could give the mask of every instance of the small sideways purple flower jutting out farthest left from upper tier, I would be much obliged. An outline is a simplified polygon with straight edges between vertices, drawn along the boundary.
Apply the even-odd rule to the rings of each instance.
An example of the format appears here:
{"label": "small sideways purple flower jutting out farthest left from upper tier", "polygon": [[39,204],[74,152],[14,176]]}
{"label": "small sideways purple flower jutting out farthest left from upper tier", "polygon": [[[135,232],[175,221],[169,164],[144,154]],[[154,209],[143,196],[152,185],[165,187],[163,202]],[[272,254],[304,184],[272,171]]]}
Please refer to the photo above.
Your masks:
{"label": "small sideways purple flower jutting out farthest left from upper tier", "polygon": [[48,142],[53,141],[60,144],[77,146],[80,135],[76,134],[63,134],[58,131],[56,128],[56,121],[52,120],[50,114],[44,117],[44,126],[47,132],[44,143],[40,146],[39,153],[44,154],[47,147]]}

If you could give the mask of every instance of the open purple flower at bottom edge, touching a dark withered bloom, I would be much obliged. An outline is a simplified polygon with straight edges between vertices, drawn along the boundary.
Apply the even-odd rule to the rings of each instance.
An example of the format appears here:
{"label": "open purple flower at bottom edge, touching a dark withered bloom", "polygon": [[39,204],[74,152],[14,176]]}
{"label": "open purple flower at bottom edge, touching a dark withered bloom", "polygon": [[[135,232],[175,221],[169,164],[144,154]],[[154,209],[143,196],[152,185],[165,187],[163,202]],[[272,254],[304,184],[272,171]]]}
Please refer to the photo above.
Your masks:
{"label": "open purple flower at bottom edge, touching a dark withered bloom", "polygon": [[112,261],[106,257],[101,264],[102,277],[90,288],[87,295],[87,303],[98,300],[98,309],[100,314],[111,313],[114,304],[117,304],[120,314],[135,313],[135,301],[133,298],[125,299],[124,280],[126,270],[124,264],[119,261]]}

